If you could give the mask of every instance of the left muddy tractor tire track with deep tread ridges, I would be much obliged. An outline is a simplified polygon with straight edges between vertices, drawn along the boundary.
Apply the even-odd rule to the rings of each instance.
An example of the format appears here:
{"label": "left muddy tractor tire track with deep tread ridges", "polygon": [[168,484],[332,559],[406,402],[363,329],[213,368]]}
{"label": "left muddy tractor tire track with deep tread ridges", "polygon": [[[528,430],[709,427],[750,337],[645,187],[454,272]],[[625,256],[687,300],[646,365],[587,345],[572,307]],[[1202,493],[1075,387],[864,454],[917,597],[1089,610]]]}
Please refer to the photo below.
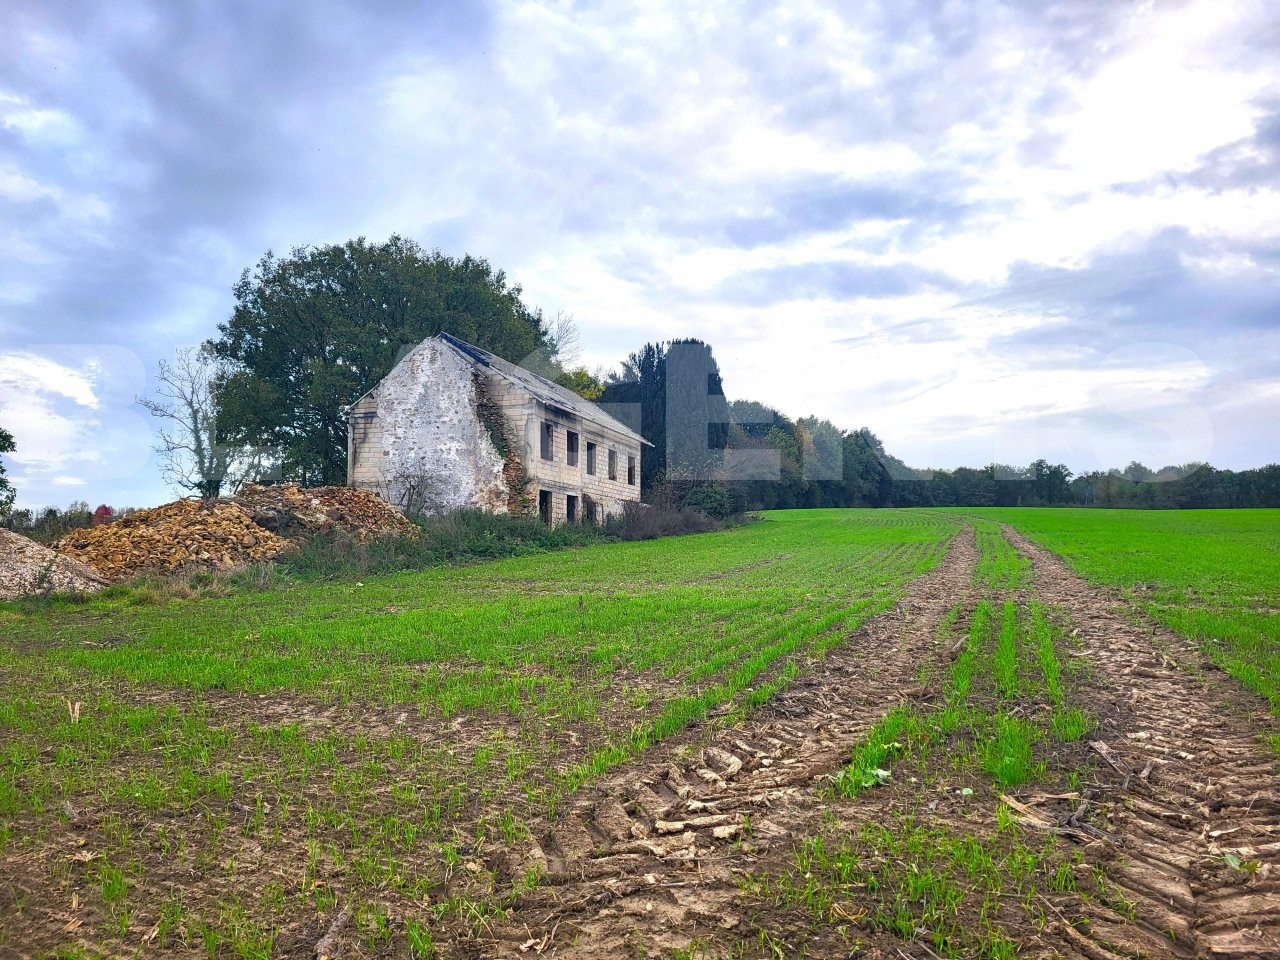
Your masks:
{"label": "left muddy tractor tire track with deep tread ridges", "polygon": [[744,722],[673,739],[582,791],[529,852],[541,884],[475,943],[483,956],[645,956],[740,931],[737,877],[815,832],[820,785],[895,704],[923,695],[940,620],[974,596],[973,530],[893,611]]}

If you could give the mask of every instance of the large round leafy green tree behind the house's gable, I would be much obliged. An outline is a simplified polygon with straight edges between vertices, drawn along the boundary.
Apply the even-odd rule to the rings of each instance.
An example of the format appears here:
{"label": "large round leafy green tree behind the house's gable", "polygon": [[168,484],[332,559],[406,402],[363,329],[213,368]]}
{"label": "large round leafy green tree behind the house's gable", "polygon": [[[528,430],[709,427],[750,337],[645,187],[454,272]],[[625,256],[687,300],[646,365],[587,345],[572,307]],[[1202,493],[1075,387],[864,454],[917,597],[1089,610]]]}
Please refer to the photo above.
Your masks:
{"label": "large round leafy green tree behind the house's gable", "polygon": [[515,362],[556,351],[503,271],[402,237],[268,252],[234,294],[210,342],[230,364],[219,440],[273,448],[284,477],[303,484],[346,483],[344,407],[428,337],[451,333]]}

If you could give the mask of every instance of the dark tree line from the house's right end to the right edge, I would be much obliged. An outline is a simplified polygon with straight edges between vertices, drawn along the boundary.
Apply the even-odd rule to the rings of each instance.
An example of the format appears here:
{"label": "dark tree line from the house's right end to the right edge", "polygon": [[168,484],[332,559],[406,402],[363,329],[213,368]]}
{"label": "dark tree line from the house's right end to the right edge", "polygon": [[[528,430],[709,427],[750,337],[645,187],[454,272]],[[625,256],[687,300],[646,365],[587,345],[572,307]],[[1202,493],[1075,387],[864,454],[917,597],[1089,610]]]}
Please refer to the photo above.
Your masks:
{"label": "dark tree line from the house's right end to the right edge", "polygon": [[[708,462],[668,462],[676,449],[668,435],[673,420],[668,360],[692,351],[700,362],[682,361],[698,381],[705,375],[701,401],[707,419]],[[805,507],[1019,507],[1079,506],[1129,508],[1280,507],[1280,465],[1256,470],[1216,470],[1185,463],[1151,470],[1132,462],[1125,468],[1076,476],[1065,463],[1037,460],[1025,467],[989,463],[956,470],[909,467],[884,449],[868,428],[845,430],[829,420],[792,420],[754,401],[723,401],[724,381],[700,340],[648,343],[623,361],[605,383],[602,401],[639,403],[636,426],[654,451],[641,471],[645,494],[682,481],[686,495],[707,499],[722,488],[731,503],[749,509]],[[698,407],[684,397],[681,408]],[[717,413],[723,413],[716,422]],[[717,448],[723,448],[717,451]],[[750,454],[756,454],[755,457]],[[760,457],[759,454],[767,454]]]}

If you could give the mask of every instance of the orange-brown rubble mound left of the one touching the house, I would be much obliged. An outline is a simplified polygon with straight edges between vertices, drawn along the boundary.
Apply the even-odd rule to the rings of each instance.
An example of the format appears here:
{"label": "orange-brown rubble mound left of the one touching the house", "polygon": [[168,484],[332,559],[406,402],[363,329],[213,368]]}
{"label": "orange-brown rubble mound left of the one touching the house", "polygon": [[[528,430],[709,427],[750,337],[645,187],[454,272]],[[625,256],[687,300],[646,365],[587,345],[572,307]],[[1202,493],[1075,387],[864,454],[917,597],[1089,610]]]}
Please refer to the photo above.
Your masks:
{"label": "orange-brown rubble mound left of the one touching the house", "polygon": [[108,580],[183,570],[236,570],[271,559],[289,541],[264,530],[225,500],[175,500],[124,520],[76,530],[54,549]]}

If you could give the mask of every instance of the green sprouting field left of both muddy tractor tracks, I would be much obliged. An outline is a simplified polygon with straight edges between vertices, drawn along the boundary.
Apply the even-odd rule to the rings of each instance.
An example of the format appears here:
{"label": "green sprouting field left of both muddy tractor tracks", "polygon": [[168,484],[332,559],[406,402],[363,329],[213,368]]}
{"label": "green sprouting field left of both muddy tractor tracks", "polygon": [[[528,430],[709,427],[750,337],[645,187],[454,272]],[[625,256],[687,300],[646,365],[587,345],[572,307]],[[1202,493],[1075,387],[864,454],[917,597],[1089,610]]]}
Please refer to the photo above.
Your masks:
{"label": "green sprouting field left of both muddy tractor tracks", "polygon": [[[369,582],[0,607],[0,854],[26,864],[9,909],[81,891],[105,943],[159,924],[159,942],[268,956],[340,874],[362,922],[399,923],[460,851],[520,844],[591,777],[767,700],[957,529],[791,513]],[[102,812],[95,858],[40,867],[78,810]],[[219,892],[184,893],[192,870]],[[503,896],[477,882],[430,915]]]}

